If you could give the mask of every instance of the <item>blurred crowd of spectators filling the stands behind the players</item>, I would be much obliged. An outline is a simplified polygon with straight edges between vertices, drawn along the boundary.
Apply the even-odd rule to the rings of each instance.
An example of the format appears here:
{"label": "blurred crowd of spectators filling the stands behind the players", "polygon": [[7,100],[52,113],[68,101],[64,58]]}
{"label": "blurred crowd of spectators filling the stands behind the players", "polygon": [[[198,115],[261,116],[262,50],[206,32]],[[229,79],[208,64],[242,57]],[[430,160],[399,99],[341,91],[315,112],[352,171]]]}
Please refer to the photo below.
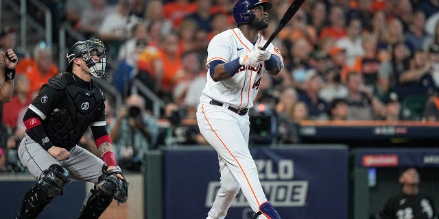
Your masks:
{"label": "blurred crowd of spectators filling the stands behind the players", "polygon": [[[207,144],[195,121],[206,49],[215,34],[236,27],[235,2],[45,0],[60,21],[55,40],[29,49],[17,47],[17,29],[3,23],[0,47],[20,60],[14,96],[0,114],[0,170],[24,170],[16,159],[23,113],[40,86],[65,70],[55,55],[60,23],[106,44],[111,77],[98,80],[123,168],[141,170],[146,150]],[[265,38],[291,3],[270,2]],[[76,40],[68,36],[66,44]],[[252,144],[298,143],[301,120],[439,118],[439,0],[306,0],[273,44],[285,68],[263,77],[250,111]],[[81,144],[96,153],[89,133]]]}

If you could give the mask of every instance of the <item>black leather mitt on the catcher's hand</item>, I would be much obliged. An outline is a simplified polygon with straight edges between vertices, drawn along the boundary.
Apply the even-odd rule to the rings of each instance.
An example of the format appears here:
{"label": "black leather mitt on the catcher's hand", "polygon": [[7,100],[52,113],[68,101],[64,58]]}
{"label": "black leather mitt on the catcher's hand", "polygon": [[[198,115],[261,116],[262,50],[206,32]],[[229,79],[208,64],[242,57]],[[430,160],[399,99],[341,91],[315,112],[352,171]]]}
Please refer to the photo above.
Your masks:
{"label": "black leather mitt on the catcher's hand", "polygon": [[130,183],[126,181],[123,175],[123,179],[119,179],[116,176],[118,173],[122,175],[122,171],[119,168],[106,171],[95,183],[95,190],[101,190],[112,196],[118,204],[126,203],[128,200],[128,185]]}

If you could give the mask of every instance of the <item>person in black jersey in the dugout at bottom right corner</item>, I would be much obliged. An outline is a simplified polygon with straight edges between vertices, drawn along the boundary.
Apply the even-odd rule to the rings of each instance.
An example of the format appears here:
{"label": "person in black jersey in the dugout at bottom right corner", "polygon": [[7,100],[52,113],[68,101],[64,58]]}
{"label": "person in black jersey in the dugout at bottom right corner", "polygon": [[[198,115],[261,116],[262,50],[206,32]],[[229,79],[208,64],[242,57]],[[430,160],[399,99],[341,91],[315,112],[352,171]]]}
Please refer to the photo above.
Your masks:
{"label": "person in black jersey in the dugout at bottom right corner", "polygon": [[420,192],[420,179],[416,168],[401,169],[398,181],[401,185],[401,192],[385,201],[383,209],[379,212],[379,218],[436,219],[438,217],[433,199]]}

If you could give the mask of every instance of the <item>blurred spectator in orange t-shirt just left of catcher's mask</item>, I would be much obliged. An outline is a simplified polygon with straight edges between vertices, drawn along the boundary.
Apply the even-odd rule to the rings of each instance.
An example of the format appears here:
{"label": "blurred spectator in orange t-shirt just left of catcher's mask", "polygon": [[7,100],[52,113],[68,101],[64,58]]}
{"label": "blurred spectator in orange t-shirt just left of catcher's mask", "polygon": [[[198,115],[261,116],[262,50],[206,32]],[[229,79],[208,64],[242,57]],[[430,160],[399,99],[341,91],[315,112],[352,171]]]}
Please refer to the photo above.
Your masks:
{"label": "blurred spectator in orange t-shirt just left of catcher's mask", "polygon": [[51,44],[40,41],[35,44],[31,58],[21,60],[16,66],[17,74],[25,74],[29,79],[29,95],[40,90],[49,78],[58,75],[58,67],[54,64],[54,49]]}

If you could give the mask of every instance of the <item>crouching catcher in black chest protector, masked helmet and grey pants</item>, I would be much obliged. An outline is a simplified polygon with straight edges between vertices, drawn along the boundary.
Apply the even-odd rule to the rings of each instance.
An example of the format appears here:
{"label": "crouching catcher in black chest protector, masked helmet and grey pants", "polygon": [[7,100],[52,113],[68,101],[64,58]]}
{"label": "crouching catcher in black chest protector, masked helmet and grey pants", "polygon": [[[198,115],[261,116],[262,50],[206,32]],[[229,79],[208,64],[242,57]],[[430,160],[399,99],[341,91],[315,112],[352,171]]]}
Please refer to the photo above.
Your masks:
{"label": "crouching catcher in black chest protector, masked helmet and grey pants", "polygon": [[[104,94],[91,79],[108,77],[107,57],[99,39],[76,42],[66,72],[49,79],[29,105],[19,157],[38,182],[26,192],[18,218],[38,217],[71,179],[95,183],[78,218],[99,218],[113,198],[127,201],[128,182],[106,131]],[[88,127],[102,159],[77,145]]]}

